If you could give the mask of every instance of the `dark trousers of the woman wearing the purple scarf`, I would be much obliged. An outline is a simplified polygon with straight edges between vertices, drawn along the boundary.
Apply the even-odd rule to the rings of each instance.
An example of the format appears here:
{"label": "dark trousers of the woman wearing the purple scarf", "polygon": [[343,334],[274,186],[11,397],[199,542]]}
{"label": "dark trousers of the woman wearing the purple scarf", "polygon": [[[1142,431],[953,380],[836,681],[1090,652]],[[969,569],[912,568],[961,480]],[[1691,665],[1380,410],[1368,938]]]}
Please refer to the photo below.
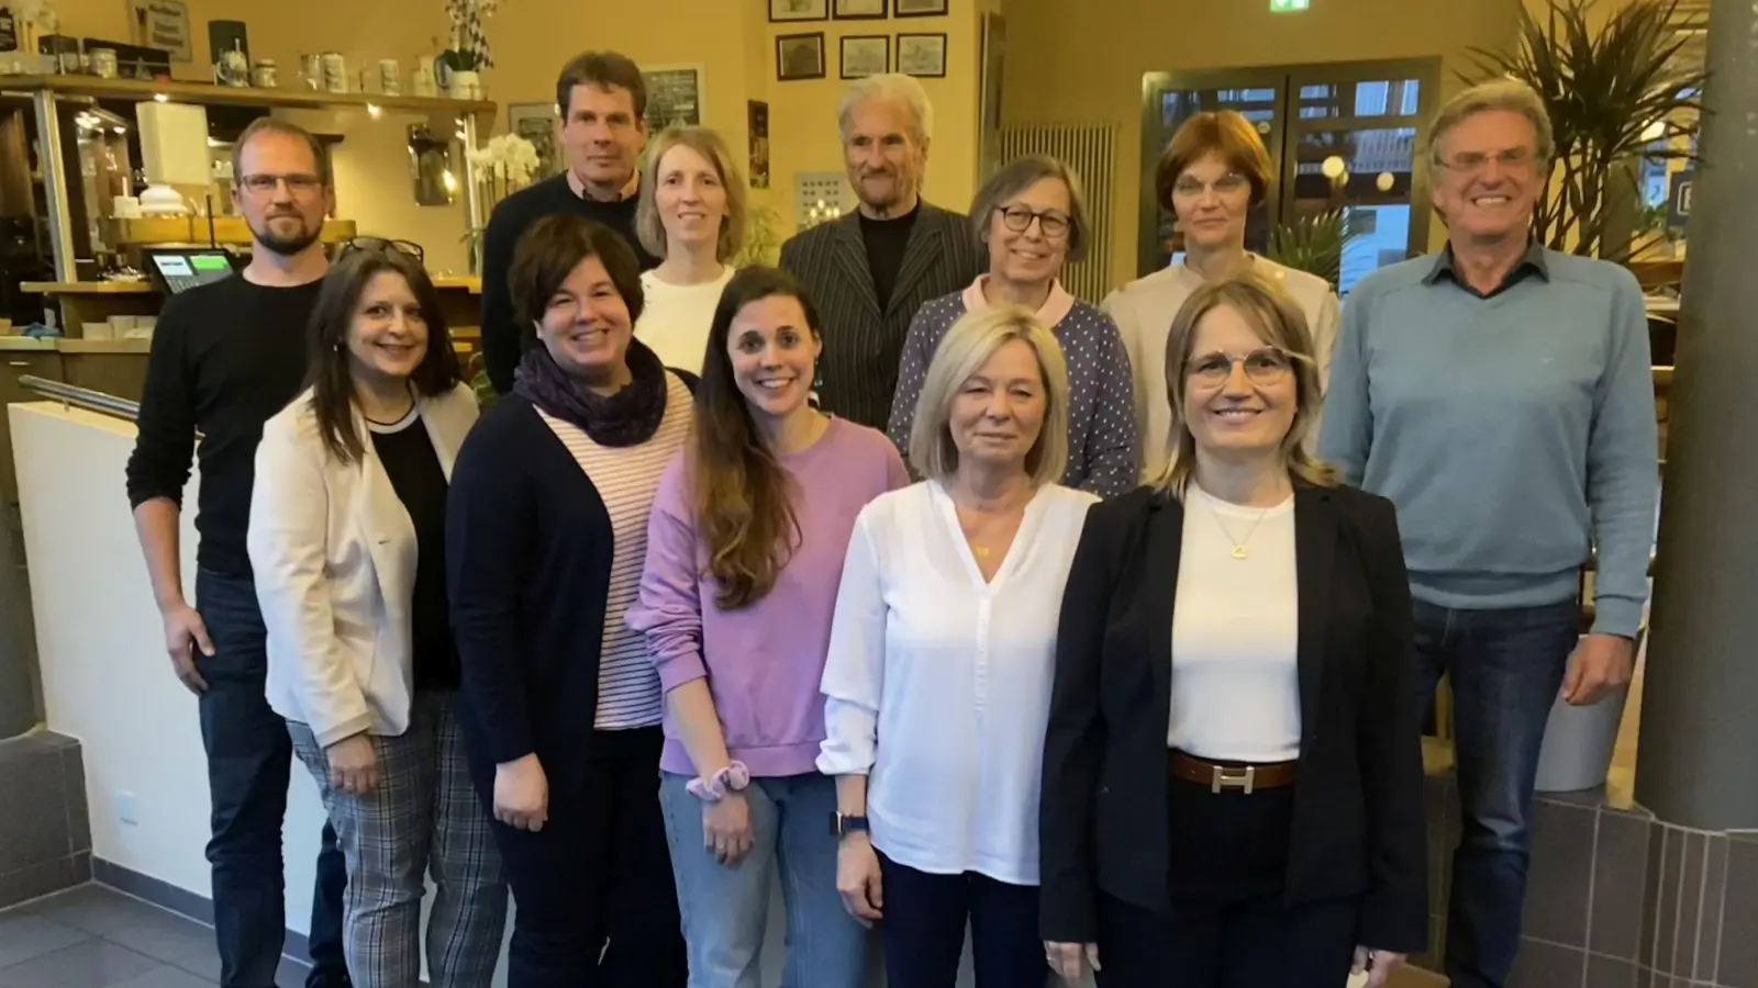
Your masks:
{"label": "dark trousers of the woman wearing the purple scarf", "polygon": [[[494,823],[513,888],[508,988],[679,988],[682,919],[665,814],[659,728],[598,731],[578,784],[550,774],[548,823]],[[476,763],[494,800],[494,768]]]}

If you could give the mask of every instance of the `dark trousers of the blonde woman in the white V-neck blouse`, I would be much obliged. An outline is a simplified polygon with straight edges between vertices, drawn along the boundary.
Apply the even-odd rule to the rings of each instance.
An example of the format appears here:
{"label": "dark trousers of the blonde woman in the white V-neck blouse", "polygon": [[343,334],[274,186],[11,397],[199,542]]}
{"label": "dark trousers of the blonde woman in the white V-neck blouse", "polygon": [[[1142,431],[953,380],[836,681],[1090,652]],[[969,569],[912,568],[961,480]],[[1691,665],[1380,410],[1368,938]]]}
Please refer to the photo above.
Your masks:
{"label": "dark trousers of the blonde woman in the white V-neck blouse", "polygon": [[[953,988],[970,925],[977,988],[1039,988],[1050,974],[1037,939],[1037,886],[988,875],[933,875],[879,854],[886,984]],[[1101,958],[1101,963],[1104,958]]]}

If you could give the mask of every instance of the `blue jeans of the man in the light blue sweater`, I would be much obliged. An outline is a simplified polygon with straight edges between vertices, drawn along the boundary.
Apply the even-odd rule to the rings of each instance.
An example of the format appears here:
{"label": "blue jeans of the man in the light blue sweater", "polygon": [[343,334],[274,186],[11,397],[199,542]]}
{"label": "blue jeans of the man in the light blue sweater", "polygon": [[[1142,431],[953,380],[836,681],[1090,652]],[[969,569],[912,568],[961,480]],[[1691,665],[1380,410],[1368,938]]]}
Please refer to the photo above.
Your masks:
{"label": "blue jeans of the man in the light blue sweater", "polygon": [[1579,636],[1575,601],[1507,610],[1415,601],[1415,703],[1422,721],[1442,673],[1452,682],[1463,810],[1447,907],[1447,977],[1456,988],[1501,988],[1514,967],[1538,749]]}

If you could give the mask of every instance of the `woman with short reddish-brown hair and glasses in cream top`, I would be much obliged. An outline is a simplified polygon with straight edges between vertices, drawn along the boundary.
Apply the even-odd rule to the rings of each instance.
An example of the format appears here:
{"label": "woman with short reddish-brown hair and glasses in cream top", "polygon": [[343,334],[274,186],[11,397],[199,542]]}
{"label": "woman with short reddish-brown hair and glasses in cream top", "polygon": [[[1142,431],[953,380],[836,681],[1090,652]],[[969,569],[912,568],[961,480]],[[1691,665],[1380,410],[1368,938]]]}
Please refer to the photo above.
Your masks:
{"label": "woman with short reddish-brown hair and glasses in cream top", "polygon": [[[1136,371],[1136,422],[1141,424],[1141,466],[1148,478],[1166,469],[1173,424],[1166,406],[1166,327],[1204,283],[1243,271],[1280,283],[1306,316],[1320,394],[1331,380],[1338,329],[1331,285],[1245,250],[1246,220],[1269,193],[1273,174],[1257,128],[1231,109],[1187,120],[1153,171],[1155,200],[1178,218],[1185,258],[1123,285],[1104,301]],[[1317,438],[1315,424],[1308,445]]]}

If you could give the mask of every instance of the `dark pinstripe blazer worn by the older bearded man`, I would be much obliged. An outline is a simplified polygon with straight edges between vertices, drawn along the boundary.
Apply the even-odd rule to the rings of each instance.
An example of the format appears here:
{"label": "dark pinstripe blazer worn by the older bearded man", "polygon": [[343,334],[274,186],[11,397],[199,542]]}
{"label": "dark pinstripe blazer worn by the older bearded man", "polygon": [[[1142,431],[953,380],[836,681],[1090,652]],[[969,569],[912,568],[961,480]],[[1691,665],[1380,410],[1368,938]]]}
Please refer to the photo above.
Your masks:
{"label": "dark pinstripe blazer worn by the older bearded man", "polygon": [[825,323],[819,406],[881,432],[891,417],[909,320],[923,302],[988,271],[988,255],[970,232],[970,220],[928,202],[919,209],[884,309],[867,265],[860,213],[812,227],[781,246],[781,267],[805,283]]}

